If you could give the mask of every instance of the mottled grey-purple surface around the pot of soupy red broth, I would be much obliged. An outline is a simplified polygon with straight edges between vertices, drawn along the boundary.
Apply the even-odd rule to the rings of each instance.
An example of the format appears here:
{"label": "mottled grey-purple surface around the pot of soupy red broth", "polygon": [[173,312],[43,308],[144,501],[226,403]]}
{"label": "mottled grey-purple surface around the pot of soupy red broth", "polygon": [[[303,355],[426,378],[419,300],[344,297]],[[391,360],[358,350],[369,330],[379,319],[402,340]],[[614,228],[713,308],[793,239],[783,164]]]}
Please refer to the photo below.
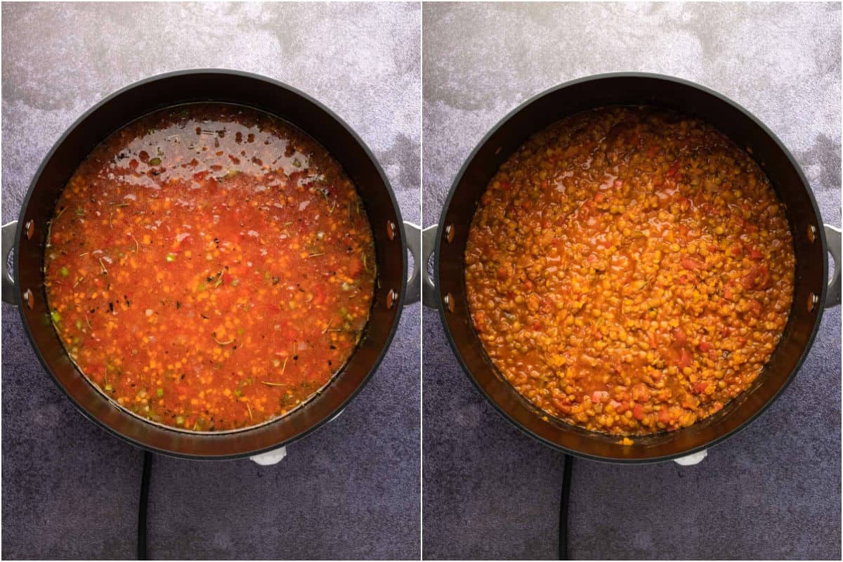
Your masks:
{"label": "mottled grey-purple surface around the pot of soupy red broth", "polygon": [[[404,4],[3,4],[3,222],[62,131],[158,72],[227,67],[314,95],[420,219],[420,24]],[[274,467],[156,458],[154,558],[419,556],[419,305],[335,421]],[[3,558],[131,558],[142,453],[84,420],[3,305]]]}

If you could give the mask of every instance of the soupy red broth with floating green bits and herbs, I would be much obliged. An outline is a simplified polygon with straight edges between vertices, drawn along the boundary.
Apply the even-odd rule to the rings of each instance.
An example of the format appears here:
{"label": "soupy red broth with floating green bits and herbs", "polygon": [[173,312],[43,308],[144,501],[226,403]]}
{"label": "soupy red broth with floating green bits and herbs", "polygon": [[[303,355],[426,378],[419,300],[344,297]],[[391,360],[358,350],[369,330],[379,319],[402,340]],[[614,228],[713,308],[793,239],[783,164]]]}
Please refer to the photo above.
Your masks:
{"label": "soupy red broth with floating green bits and herbs", "polygon": [[323,147],[271,115],[191,104],[94,149],[56,205],[45,270],[52,323],[103,393],[223,431],[330,382],[367,323],[375,260]]}

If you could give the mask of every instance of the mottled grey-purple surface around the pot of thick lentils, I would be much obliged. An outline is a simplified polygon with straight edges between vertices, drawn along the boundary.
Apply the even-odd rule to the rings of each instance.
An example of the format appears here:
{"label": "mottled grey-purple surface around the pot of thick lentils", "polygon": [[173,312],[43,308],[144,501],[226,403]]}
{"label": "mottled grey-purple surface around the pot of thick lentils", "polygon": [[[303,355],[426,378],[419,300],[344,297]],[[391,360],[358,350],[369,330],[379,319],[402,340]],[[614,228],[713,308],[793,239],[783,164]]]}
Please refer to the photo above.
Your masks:
{"label": "mottled grey-purple surface around the pot of thick lentils", "polygon": [[[425,4],[424,221],[524,99],[598,72],[663,72],[743,104],[808,175],[840,225],[840,4]],[[423,553],[556,557],[561,453],[486,404],[424,331]],[[840,308],[752,426],[701,464],[578,461],[571,554],[583,559],[840,559]]]}

